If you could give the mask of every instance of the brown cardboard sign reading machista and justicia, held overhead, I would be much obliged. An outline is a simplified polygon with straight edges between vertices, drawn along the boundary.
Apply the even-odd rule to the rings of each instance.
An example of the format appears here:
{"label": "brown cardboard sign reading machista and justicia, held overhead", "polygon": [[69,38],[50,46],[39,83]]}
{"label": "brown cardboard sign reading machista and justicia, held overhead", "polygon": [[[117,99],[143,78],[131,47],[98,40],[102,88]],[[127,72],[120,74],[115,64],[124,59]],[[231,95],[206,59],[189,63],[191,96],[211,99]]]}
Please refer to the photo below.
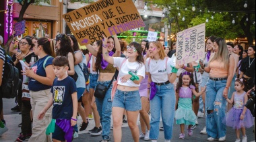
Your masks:
{"label": "brown cardboard sign reading machista and justicia, held overhead", "polygon": [[100,0],[63,18],[81,45],[145,26],[132,0]]}

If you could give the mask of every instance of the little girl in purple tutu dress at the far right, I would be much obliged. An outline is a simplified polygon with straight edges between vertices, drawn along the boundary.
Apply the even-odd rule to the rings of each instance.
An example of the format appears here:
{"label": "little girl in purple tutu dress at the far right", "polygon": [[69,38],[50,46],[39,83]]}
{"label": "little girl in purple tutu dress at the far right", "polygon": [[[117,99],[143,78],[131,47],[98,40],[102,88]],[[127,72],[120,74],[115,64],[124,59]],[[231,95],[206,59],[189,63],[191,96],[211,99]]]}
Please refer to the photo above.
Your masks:
{"label": "little girl in purple tutu dress at the far right", "polygon": [[[242,141],[247,141],[247,136],[245,134],[245,128],[250,128],[253,126],[253,116],[251,112],[245,107],[245,103],[248,100],[246,92],[243,90],[245,85],[243,84],[243,79],[237,79],[234,82],[234,89],[236,92],[233,92],[231,99],[228,99],[228,96],[224,98],[228,101],[229,104],[234,105],[226,115],[223,123],[226,123],[226,126],[232,127],[236,131],[236,141],[240,142],[240,131],[243,133]],[[226,122],[225,122],[226,121]]]}

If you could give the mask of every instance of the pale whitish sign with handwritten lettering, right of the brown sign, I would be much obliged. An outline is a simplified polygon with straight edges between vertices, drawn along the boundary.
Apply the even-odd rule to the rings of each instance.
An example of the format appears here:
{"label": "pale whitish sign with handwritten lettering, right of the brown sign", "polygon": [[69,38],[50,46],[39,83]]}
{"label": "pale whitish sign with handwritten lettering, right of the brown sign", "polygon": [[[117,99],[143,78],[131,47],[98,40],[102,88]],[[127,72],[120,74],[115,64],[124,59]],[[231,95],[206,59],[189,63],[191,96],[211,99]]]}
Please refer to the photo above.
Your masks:
{"label": "pale whitish sign with handwritten lettering, right of the brown sign", "polygon": [[205,23],[177,33],[176,64],[187,64],[204,57]]}

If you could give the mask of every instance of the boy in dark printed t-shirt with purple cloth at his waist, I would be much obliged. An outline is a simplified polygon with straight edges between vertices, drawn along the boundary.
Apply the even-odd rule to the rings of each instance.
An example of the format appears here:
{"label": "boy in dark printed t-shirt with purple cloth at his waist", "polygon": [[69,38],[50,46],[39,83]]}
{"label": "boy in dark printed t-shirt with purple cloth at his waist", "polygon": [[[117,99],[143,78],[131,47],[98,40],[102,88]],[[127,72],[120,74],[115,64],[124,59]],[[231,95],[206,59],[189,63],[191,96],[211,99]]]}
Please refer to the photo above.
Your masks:
{"label": "boy in dark printed t-shirt with purple cloth at his waist", "polygon": [[53,141],[72,141],[73,126],[77,121],[77,90],[75,80],[67,76],[68,64],[65,56],[57,56],[53,60],[57,76],[51,88],[53,96],[38,115],[38,119],[42,119],[53,104],[53,119],[56,119]]}

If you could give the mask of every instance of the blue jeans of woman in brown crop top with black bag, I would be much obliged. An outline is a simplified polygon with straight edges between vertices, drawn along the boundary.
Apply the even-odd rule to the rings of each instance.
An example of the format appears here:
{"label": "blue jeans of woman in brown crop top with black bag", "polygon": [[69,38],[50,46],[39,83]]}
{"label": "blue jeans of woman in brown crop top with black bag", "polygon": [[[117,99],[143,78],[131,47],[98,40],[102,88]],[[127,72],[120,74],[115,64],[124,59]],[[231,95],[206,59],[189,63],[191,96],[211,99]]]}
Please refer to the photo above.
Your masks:
{"label": "blue jeans of woman in brown crop top with black bag", "polygon": [[[97,82],[97,84],[102,84],[108,86],[110,81]],[[110,140],[110,125],[111,125],[111,113],[112,113],[112,101],[111,101],[111,89],[112,85],[106,91],[103,99],[96,98],[96,105],[98,114],[100,115],[100,123],[102,126],[102,139]]]}

